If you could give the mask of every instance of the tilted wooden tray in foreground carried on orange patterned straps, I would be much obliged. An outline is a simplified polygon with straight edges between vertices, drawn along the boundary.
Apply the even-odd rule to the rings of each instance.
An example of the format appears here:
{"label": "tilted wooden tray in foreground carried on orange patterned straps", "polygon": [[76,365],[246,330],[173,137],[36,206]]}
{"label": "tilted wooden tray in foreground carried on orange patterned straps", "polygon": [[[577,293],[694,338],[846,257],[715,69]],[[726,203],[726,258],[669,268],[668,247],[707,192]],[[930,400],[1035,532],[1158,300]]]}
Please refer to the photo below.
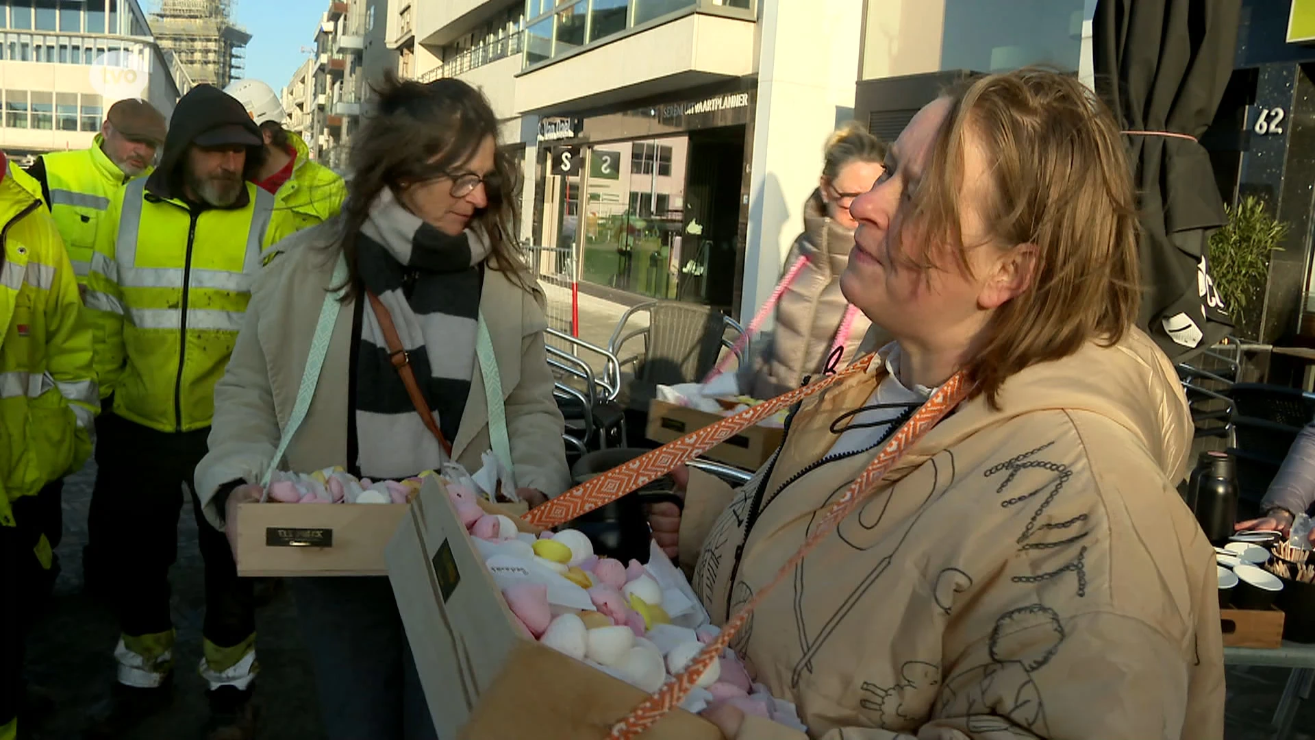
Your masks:
{"label": "tilted wooden tray in foreground carried on orange patterned straps", "polygon": [[[644,699],[639,689],[515,631],[502,593],[437,479],[425,482],[385,552],[439,737],[602,739]],[[722,735],[702,718],[676,711],[643,737]]]}

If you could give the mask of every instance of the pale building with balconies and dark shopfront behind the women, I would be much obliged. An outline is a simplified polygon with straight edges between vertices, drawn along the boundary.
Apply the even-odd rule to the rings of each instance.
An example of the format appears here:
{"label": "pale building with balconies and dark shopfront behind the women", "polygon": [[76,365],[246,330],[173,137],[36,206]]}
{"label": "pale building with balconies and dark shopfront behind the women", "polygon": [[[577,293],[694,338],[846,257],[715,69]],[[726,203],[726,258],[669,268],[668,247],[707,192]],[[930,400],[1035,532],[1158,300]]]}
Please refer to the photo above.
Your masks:
{"label": "pale building with balconies and dark shopfront behind the women", "polygon": [[522,240],[581,290],[751,313],[853,109],[861,0],[394,0],[421,80],[481,88],[523,162]]}

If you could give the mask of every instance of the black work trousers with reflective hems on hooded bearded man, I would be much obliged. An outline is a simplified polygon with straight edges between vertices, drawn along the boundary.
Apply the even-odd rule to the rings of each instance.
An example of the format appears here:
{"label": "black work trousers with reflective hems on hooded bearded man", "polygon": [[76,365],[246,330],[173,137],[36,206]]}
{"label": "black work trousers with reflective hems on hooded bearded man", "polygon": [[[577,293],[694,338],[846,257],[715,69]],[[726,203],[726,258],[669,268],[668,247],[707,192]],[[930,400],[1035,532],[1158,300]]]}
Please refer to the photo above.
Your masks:
{"label": "black work trousers with reflective hems on hooded bearded man", "polygon": [[103,461],[88,528],[104,560],[120,640],[118,681],[160,686],[174,668],[168,570],[178,558],[178,517],[184,496],[196,516],[205,562],[205,623],[200,673],[210,689],[247,689],[255,678],[255,604],[251,582],[238,578],[229,541],[201,515],[192,492],[209,429],[164,433],[107,415],[97,450]]}

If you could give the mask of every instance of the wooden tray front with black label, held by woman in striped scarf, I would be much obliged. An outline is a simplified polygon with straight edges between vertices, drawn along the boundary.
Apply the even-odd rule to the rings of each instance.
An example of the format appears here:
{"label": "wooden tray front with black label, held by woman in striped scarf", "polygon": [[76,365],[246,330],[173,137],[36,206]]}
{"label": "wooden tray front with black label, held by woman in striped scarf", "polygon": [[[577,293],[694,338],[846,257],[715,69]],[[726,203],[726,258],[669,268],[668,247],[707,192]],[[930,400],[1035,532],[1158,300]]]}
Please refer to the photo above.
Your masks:
{"label": "wooden tray front with black label, held by woman in striped scarf", "polygon": [[406,504],[238,504],[238,575],[387,575]]}

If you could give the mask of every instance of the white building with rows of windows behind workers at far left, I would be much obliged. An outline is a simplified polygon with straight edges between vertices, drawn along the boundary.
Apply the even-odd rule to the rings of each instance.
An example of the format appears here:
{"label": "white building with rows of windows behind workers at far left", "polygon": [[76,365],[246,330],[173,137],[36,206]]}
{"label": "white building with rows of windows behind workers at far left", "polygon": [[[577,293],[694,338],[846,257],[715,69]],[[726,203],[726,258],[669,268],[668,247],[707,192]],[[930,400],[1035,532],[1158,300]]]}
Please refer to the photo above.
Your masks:
{"label": "white building with rows of windows behind workers at far left", "polygon": [[20,162],[91,146],[125,97],[167,117],[192,86],[137,0],[5,0],[0,26],[0,149]]}

